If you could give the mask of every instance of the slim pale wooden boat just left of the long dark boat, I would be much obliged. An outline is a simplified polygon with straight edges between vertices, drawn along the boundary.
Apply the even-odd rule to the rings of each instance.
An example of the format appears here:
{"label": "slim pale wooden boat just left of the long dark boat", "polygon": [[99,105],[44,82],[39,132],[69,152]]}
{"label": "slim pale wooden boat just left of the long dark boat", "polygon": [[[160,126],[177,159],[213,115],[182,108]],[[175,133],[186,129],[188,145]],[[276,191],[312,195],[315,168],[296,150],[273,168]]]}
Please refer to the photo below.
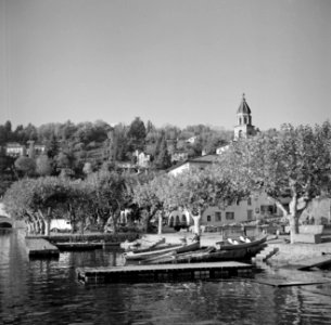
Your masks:
{"label": "slim pale wooden boat just left of the long dark boat", "polygon": [[153,257],[157,257],[160,255],[164,253],[170,253],[170,252],[186,252],[186,251],[192,251],[200,248],[200,242],[192,242],[191,244],[176,244],[176,245],[168,245],[167,247],[156,247],[154,250],[150,251],[128,251],[124,252],[123,256],[126,260],[145,260]]}

